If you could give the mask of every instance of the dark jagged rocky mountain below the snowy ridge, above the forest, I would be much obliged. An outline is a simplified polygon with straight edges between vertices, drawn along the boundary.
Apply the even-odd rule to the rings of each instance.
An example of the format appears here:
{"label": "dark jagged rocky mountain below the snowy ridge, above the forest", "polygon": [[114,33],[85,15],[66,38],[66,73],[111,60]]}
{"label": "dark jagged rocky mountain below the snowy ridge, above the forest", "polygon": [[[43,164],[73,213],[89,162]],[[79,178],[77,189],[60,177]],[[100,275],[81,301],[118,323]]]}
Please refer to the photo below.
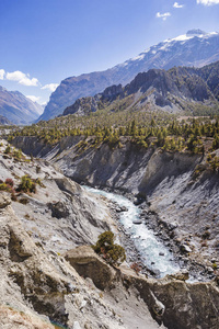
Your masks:
{"label": "dark jagged rocky mountain below the snowy ridge, above the forest", "polygon": [[94,97],[78,99],[64,115],[79,116],[97,110],[163,110],[168,112],[219,110],[219,61],[203,68],[174,67],[138,73],[124,88],[112,86]]}

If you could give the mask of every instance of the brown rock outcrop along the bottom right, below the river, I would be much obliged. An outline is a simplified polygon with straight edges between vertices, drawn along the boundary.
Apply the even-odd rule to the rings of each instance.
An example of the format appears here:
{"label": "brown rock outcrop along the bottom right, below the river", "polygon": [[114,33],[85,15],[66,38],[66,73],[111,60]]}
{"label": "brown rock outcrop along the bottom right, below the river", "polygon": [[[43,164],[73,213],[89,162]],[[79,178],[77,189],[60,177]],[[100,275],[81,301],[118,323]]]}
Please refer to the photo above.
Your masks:
{"label": "brown rock outcrop along the bottom right, below the river", "polygon": [[[103,269],[105,270],[107,265],[89,247],[83,246],[67,252],[66,259],[77,272],[92,279],[95,285],[103,283]],[[163,322],[166,328],[218,328],[219,286],[216,280],[206,283],[186,283],[185,276],[177,275],[174,279],[171,276],[162,280],[145,279],[126,266],[117,269],[116,275],[115,273],[110,275],[111,272],[112,270],[108,276],[104,277],[103,287],[111,291],[113,284],[120,280],[126,288],[136,288],[154,319],[159,324]]]}

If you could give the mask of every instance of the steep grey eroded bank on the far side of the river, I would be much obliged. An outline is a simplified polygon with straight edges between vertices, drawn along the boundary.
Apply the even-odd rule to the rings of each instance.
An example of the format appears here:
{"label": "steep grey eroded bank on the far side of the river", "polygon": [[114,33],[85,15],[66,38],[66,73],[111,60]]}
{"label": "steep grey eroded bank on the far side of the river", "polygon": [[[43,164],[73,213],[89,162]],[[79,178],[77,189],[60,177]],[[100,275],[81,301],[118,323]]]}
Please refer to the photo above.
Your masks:
{"label": "steep grey eroded bank on the far side of the river", "polygon": [[182,266],[187,264],[197,279],[211,277],[219,269],[219,180],[206,169],[205,156],[137,147],[126,138],[119,147],[80,148],[81,138],[65,137],[51,146],[16,137],[13,144],[27,154],[34,150],[78,183],[145,197],[147,225],[170,245]]}

